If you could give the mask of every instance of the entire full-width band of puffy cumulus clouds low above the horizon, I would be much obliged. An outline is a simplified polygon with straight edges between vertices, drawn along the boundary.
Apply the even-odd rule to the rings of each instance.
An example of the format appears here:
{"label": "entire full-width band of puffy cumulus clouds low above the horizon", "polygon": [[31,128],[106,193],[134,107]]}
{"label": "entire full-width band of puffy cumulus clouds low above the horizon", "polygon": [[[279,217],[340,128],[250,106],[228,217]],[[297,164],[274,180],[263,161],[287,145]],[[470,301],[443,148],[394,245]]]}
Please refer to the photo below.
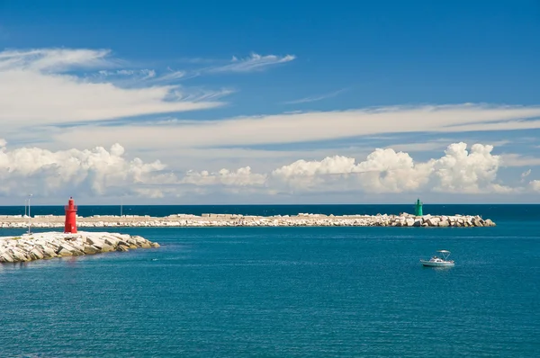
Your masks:
{"label": "entire full-width band of puffy cumulus clouds low above the horizon", "polygon": [[237,192],[249,195],[297,194],[302,192],[447,192],[517,193],[540,192],[540,181],[526,187],[510,187],[497,176],[500,156],[490,145],[465,143],[448,146],[442,157],[415,161],[408,153],[379,148],[364,160],[326,157],[297,160],[268,173],[251,167],[219,171],[188,171],[176,175],[160,161],[129,159],[118,143],[108,150],[42,148],[10,150],[0,140],[0,195],[27,192],[42,196],[85,193],[106,198],[129,194],[132,198],[163,198],[208,192]]}

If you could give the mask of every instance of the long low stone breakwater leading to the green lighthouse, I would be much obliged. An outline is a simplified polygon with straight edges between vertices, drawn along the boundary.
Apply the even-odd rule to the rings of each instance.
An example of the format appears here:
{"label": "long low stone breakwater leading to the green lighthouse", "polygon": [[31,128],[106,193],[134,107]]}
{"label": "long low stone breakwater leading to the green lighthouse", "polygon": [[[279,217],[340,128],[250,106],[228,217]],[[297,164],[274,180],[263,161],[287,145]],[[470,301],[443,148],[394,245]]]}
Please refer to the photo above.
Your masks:
{"label": "long low stone breakwater leading to the green lighthouse", "polygon": [[[0,216],[0,228],[63,228],[64,216],[40,215],[31,219],[19,216]],[[121,227],[492,227],[491,219],[472,215],[424,215],[416,217],[408,213],[400,215],[323,215],[300,213],[298,215],[248,216],[235,214],[174,214],[166,217],[137,215],[101,216],[76,218],[81,228]]]}

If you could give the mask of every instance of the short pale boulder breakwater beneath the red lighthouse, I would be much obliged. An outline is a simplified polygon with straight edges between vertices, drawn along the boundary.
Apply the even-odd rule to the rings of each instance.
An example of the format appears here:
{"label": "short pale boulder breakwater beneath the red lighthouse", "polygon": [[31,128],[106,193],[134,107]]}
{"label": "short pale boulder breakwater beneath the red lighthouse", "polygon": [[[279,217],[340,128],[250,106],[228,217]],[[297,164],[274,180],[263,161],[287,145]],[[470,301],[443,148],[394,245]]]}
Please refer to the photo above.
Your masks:
{"label": "short pale boulder breakwater beneath the red lighthouse", "polygon": [[159,244],[139,236],[107,232],[24,234],[21,237],[0,237],[0,263],[17,263],[62,256],[94,255],[150,247],[159,247]]}

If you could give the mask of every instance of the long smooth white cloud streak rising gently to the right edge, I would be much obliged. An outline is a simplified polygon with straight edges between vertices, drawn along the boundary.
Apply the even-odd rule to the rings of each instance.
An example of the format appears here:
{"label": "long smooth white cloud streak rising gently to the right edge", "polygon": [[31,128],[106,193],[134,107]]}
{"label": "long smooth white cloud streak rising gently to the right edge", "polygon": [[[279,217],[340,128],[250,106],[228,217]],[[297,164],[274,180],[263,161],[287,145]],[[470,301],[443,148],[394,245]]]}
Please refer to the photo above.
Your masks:
{"label": "long smooth white cloud streak rising gently to the right edge", "polygon": [[[88,127],[55,137],[65,145],[112,145],[124,138],[127,147],[144,137],[160,148],[246,147],[261,144],[300,143],[346,139],[384,133],[464,130],[462,124],[487,126],[491,121],[513,122],[540,116],[540,107],[460,104],[418,107],[383,107],[344,112],[304,112],[220,121],[177,121],[166,126]],[[477,124],[475,124],[477,123]],[[529,128],[536,128],[536,121]],[[538,121],[540,124],[540,121]],[[528,125],[528,124],[527,124]]]}

